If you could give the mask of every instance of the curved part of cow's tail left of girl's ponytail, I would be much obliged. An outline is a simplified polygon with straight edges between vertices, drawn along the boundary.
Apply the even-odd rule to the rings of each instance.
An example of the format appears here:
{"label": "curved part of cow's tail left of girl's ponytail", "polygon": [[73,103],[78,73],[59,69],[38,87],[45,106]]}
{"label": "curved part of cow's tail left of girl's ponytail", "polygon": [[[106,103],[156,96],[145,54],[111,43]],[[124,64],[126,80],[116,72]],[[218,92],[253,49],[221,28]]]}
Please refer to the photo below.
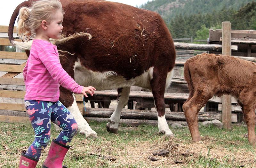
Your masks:
{"label": "curved part of cow's tail left of girl's ponytail", "polygon": [[9,23],[9,27],[8,27],[8,36],[9,36],[9,41],[12,44],[12,46],[16,46],[17,48],[20,48],[21,50],[29,50],[31,47],[32,42],[28,41],[28,42],[19,42],[19,41],[15,41],[13,39],[13,29],[14,29],[14,24],[15,24],[15,20],[19,15],[19,11],[21,7],[30,7],[32,4],[32,1],[25,1],[20,3],[15,10],[12,13],[12,17],[10,19],[10,23]]}

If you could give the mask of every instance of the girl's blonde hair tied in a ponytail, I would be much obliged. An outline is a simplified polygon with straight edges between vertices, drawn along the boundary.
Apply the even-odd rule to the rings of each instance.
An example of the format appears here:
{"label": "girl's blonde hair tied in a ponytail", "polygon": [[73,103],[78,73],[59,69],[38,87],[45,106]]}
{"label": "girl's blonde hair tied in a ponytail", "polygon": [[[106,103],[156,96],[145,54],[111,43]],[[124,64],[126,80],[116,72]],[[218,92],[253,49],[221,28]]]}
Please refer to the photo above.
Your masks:
{"label": "girl's blonde hair tied in a ponytail", "polygon": [[21,7],[17,26],[19,37],[24,42],[34,39],[35,31],[41,26],[42,21],[51,22],[58,10],[64,14],[59,0],[40,0],[34,2],[30,8]]}

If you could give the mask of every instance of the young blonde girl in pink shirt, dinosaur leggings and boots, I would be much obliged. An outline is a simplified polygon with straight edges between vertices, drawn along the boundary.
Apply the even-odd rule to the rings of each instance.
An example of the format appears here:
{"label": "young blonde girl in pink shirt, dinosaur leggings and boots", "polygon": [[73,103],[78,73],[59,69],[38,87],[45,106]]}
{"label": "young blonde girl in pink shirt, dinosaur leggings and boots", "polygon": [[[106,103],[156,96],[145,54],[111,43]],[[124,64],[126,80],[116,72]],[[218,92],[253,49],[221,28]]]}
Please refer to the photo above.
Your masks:
{"label": "young blonde girl in pink shirt, dinosaur leggings and boots", "polygon": [[59,101],[60,85],[86,97],[95,88],[78,85],[61,67],[57,47],[50,38],[60,38],[63,11],[59,0],[40,0],[31,8],[20,8],[18,34],[24,41],[33,39],[28,61],[23,70],[26,86],[25,105],[35,131],[35,140],[20,157],[20,168],[35,168],[50,140],[51,121],[62,128],[52,141],[43,167],[62,168],[77,124],[68,109]]}

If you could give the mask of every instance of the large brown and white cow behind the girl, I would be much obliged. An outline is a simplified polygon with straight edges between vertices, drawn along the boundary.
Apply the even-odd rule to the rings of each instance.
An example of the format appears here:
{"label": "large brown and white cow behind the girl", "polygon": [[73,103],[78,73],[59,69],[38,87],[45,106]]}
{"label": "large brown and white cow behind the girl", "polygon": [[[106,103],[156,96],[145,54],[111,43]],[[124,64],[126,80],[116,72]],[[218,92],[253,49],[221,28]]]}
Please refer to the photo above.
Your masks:
{"label": "large brown and white cow behind the girl", "polygon": [[[9,24],[9,39],[18,11],[30,6],[21,3]],[[158,112],[159,132],[174,136],[165,120],[164,89],[171,83],[175,48],[164,20],[156,12],[122,3],[98,0],[60,0],[65,11],[63,32],[88,32],[92,39],[81,37],[57,44],[62,53],[62,67],[83,86],[97,90],[117,89],[118,104],[107,123],[107,130],[116,133],[121,110],[129,99],[133,85],[152,90]],[[76,105],[75,96],[60,88],[60,101],[68,107],[78,123],[80,133],[96,136]]]}

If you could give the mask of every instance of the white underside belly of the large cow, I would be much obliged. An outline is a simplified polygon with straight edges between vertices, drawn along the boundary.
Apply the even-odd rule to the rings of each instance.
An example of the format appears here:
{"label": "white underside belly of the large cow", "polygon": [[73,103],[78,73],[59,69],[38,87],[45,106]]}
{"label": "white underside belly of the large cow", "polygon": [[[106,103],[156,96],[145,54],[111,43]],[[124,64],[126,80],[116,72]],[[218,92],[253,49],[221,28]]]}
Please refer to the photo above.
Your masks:
{"label": "white underside belly of the large cow", "polygon": [[111,90],[130,86],[139,86],[151,90],[150,80],[153,78],[153,69],[150,67],[140,76],[125,80],[123,76],[117,75],[114,71],[96,72],[75,63],[75,81],[82,86],[93,86],[97,90]]}

